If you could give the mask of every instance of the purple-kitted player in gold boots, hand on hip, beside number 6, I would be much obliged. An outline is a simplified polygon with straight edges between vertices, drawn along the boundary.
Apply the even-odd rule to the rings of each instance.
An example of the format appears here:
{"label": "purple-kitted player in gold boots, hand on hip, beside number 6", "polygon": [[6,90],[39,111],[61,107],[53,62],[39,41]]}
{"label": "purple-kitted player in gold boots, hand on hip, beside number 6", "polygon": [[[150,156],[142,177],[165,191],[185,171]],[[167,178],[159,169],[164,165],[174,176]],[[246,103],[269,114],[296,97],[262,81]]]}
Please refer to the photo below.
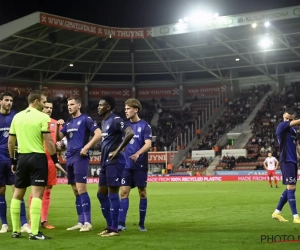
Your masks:
{"label": "purple-kitted player in gold boots, hand on hip, beside number 6", "polygon": [[[99,233],[103,237],[118,236],[120,209],[119,188],[125,167],[125,155],[122,149],[130,142],[134,132],[125,126],[124,120],[113,113],[115,99],[103,96],[99,101],[98,113],[103,117],[101,124],[101,171],[97,197],[107,226]],[[124,140],[122,136],[125,133]]]}

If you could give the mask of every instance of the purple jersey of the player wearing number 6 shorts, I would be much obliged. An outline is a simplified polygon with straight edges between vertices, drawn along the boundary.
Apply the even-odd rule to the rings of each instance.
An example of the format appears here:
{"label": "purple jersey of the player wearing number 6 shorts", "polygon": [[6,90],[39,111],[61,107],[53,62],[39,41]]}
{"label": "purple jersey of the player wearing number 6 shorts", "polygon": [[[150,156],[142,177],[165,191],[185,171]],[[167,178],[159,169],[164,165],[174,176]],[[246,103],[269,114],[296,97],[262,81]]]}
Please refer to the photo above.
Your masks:
{"label": "purple jersey of the player wearing number 6 shorts", "polygon": [[133,162],[129,157],[139,151],[144,145],[145,140],[152,140],[151,126],[144,120],[138,122],[128,121],[125,126],[131,127],[134,136],[128,143],[125,149],[126,166],[125,168],[135,170],[148,170],[148,152],[140,155],[136,162]]}

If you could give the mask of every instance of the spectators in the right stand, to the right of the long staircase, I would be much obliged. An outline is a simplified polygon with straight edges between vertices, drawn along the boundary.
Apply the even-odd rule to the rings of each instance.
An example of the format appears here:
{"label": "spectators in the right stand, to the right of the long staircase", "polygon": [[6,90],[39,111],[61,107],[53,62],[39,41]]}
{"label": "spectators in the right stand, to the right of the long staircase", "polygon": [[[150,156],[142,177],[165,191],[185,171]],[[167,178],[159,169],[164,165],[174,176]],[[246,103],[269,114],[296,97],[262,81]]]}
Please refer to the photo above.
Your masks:
{"label": "spectators in the right stand, to the right of the long staircase", "polygon": [[[282,93],[275,93],[268,96],[262,108],[257,112],[252,121],[252,134],[245,149],[247,149],[247,157],[239,157],[236,159],[237,166],[239,164],[248,163],[255,169],[263,168],[263,159],[267,157],[267,153],[271,152],[274,157],[279,157],[279,144],[276,138],[276,127],[282,121],[282,115],[287,108],[293,108],[300,114],[300,86],[291,84],[286,87]],[[298,103],[299,102],[299,103]],[[299,132],[299,131],[298,131]],[[227,166],[228,160],[223,157],[220,165]],[[226,168],[226,167],[225,167]]]}

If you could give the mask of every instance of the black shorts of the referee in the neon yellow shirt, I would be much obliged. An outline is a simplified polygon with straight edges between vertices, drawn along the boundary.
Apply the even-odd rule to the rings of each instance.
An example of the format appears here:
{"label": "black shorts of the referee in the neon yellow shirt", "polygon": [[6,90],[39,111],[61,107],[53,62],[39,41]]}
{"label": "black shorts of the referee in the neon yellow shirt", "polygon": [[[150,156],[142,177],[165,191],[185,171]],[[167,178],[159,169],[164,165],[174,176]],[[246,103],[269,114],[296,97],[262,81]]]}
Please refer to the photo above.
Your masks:
{"label": "black shorts of the referee in the neon yellow shirt", "polygon": [[46,154],[19,154],[15,174],[15,187],[47,186],[48,162]]}

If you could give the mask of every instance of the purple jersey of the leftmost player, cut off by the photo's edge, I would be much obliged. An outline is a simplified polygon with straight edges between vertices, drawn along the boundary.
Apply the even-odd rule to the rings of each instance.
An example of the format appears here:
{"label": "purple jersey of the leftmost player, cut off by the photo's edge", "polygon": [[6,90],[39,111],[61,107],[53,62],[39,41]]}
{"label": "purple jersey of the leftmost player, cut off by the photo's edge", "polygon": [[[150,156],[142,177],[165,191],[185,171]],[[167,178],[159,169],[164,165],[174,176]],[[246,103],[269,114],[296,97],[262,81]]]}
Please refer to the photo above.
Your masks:
{"label": "purple jersey of the leftmost player, cut off by the photo's edge", "polygon": [[10,124],[15,114],[13,110],[9,114],[0,113],[0,161],[10,160],[7,143]]}

